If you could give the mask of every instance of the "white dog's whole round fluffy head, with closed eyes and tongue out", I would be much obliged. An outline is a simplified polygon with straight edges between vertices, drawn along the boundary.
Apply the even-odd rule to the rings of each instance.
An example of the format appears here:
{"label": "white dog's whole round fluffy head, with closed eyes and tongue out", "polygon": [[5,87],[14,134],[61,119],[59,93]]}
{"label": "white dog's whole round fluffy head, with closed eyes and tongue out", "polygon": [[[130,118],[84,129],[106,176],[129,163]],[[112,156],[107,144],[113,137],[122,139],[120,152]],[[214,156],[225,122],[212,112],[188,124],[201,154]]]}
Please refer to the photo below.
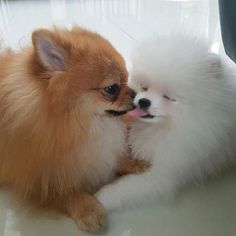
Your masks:
{"label": "white dog's whole round fluffy head, with closed eyes and tongue out", "polygon": [[134,54],[129,86],[137,93],[136,109],[129,114],[144,122],[200,117],[219,97],[212,88],[220,72],[220,59],[201,41],[181,36],[148,41]]}

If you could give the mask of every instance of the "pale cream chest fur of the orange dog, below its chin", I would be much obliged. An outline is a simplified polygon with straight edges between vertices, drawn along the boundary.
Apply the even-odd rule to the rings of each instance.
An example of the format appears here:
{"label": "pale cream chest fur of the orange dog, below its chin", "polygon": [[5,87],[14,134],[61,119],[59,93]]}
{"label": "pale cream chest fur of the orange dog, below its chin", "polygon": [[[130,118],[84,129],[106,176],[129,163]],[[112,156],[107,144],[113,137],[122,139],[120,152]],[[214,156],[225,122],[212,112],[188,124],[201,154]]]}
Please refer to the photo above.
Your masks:
{"label": "pale cream chest fur of the orange dog, below its chin", "polygon": [[90,137],[83,146],[82,155],[86,158],[83,168],[89,170],[87,181],[94,185],[111,181],[125,150],[125,125],[114,118],[95,118]]}

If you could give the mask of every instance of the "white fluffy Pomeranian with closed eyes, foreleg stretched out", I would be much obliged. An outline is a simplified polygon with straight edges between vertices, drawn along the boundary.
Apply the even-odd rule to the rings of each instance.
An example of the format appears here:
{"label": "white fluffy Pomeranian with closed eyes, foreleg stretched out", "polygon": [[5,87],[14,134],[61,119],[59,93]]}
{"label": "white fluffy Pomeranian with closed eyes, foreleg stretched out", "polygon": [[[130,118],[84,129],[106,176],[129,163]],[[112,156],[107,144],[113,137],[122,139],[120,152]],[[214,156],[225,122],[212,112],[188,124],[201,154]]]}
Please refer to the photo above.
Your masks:
{"label": "white fluffy Pomeranian with closed eyes, foreleg stretched out", "polygon": [[185,35],[153,39],[135,51],[130,87],[137,93],[129,144],[152,163],[142,175],[103,187],[107,210],[172,198],[236,161],[236,89],[232,68],[205,42]]}

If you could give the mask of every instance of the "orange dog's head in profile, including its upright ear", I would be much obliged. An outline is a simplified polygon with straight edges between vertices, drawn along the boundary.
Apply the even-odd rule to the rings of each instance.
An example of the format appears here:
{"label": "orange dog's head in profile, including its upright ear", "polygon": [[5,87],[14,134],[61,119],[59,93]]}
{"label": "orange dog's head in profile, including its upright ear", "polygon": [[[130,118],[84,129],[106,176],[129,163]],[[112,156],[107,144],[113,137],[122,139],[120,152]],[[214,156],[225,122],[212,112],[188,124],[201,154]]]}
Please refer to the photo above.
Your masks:
{"label": "orange dog's head in profile, including its upright ear", "polygon": [[121,55],[100,35],[81,29],[37,30],[32,71],[45,82],[50,109],[117,116],[132,109]]}

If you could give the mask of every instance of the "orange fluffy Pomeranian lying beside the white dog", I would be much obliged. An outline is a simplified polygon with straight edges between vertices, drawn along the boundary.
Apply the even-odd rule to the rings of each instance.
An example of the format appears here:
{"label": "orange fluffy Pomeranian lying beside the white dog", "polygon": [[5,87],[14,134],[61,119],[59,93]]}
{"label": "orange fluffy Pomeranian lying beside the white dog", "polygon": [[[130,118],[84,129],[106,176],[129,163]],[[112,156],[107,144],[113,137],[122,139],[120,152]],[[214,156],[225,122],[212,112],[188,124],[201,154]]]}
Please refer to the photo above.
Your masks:
{"label": "orange fluffy Pomeranian lying beside the white dog", "polygon": [[121,55],[100,35],[40,29],[33,45],[0,56],[0,182],[18,197],[98,231],[106,212],[93,196],[145,169],[125,156],[133,92]]}

